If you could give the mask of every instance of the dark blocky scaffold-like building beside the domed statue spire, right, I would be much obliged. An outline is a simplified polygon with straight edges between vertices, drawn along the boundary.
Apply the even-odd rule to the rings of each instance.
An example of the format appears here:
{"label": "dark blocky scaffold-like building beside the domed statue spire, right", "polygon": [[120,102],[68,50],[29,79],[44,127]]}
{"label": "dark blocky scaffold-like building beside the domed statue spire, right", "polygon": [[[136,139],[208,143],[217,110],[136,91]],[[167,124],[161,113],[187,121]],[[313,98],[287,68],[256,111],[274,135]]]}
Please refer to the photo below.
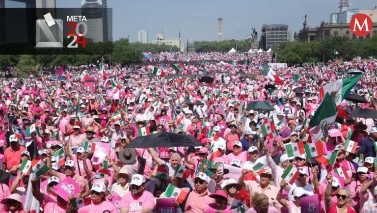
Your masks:
{"label": "dark blocky scaffold-like building beside the domed statue spire, right", "polygon": [[280,43],[287,41],[289,41],[288,25],[266,24],[262,26],[261,45],[263,50],[267,51],[270,48],[273,49]]}

